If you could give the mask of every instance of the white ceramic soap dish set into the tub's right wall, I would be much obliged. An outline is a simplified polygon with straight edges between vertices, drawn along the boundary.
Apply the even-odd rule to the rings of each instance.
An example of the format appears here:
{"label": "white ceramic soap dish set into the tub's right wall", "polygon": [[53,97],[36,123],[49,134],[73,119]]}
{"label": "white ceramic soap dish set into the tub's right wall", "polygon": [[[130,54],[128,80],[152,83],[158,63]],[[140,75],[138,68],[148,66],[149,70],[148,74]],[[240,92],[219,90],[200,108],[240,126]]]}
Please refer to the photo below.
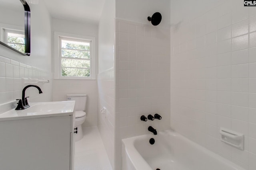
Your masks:
{"label": "white ceramic soap dish set into the tub's right wall", "polygon": [[237,149],[244,150],[244,134],[220,127],[220,135],[222,142]]}

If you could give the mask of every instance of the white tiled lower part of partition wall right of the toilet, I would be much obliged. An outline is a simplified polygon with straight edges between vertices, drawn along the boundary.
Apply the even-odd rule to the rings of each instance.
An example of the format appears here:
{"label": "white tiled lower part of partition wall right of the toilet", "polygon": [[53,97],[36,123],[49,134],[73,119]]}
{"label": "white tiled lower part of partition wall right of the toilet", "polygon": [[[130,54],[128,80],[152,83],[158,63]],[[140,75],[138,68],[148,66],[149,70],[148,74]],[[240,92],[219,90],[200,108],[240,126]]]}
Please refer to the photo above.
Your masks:
{"label": "white tiled lower part of partition wall right of the toilet", "polygon": [[[108,158],[114,169],[114,137],[115,137],[115,74],[114,68],[98,74],[98,129],[104,141]],[[100,110],[106,107],[106,113]]]}

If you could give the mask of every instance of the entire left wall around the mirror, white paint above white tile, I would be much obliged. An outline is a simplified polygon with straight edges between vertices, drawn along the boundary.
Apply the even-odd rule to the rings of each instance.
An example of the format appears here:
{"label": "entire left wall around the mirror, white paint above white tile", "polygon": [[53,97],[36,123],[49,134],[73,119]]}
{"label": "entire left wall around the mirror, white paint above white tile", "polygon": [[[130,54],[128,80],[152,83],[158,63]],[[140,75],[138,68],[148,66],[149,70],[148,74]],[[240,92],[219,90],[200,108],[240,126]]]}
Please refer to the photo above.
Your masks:
{"label": "entire left wall around the mirror, white paint above white tile", "polygon": [[[1,92],[0,104],[21,98],[21,78],[44,78],[50,80],[47,84],[38,84],[43,94],[36,89],[28,90],[30,101],[52,100],[52,70],[51,70],[51,18],[44,5],[30,5],[31,10],[31,55],[20,55],[7,47],[0,45],[1,57]],[[44,14],[44,15],[42,15]],[[24,20],[23,20],[24,22]],[[12,24],[12,23],[9,23]],[[14,23],[15,24],[15,23]],[[40,41],[38,41],[40,39]]]}

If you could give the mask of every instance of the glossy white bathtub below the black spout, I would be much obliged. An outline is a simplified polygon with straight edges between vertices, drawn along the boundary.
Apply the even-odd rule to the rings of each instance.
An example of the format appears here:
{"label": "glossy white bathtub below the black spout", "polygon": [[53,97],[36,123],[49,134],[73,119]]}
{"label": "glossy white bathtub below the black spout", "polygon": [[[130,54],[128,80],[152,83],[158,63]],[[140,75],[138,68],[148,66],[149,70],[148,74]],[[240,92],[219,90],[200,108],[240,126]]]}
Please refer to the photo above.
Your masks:
{"label": "glossy white bathtub below the black spout", "polygon": [[[155,139],[154,145],[149,143]],[[122,140],[122,170],[245,170],[171,130]]]}

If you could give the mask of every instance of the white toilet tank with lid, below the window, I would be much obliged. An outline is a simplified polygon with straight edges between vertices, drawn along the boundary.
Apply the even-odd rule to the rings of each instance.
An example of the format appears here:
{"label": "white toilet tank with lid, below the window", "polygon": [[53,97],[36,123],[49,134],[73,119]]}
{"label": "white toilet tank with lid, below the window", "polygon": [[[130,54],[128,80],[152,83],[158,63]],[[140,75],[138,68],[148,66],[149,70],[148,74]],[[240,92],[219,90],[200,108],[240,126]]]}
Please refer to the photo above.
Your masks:
{"label": "white toilet tank with lid, below the window", "polygon": [[76,101],[75,111],[85,111],[87,94],[67,94],[68,101]]}

